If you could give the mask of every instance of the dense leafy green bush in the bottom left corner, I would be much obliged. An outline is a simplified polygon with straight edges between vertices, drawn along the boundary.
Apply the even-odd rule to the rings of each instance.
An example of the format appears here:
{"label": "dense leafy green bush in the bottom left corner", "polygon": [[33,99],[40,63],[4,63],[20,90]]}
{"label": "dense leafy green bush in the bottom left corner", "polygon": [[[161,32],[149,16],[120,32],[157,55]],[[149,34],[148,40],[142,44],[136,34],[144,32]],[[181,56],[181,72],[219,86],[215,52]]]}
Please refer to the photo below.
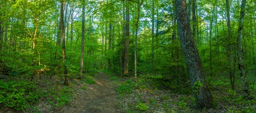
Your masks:
{"label": "dense leafy green bush in the bottom left corner", "polygon": [[33,82],[0,80],[0,105],[15,110],[28,108],[41,97]]}

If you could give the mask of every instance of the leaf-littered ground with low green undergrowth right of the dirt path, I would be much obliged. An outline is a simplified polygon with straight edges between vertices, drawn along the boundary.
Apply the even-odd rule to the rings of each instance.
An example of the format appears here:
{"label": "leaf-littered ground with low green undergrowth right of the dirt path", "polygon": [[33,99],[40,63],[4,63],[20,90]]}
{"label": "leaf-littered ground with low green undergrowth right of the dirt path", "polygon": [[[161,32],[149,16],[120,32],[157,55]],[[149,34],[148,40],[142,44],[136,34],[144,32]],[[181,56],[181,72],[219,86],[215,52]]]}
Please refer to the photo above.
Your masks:
{"label": "leaf-littered ground with low green undergrowth right of the dirt path", "polygon": [[[110,78],[116,86],[119,107],[124,112],[255,112],[255,93],[251,99],[245,99],[241,90],[231,90],[225,75],[215,76],[214,81],[209,81],[210,90],[214,96],[211,109],[198,109],[193,92],[189,84],[172,85],[156,82],[149,75],[141,76],[138,89],[135,88],[134,78]],[[226,76],[228,77],[228,76]],[[237,80],[239,81],[239,80]],[[252,82],[252,81],[251,81]],[[167,86],[159,85],[165,84]],[[239,83],[237,83],[239,84]],[[253,89],[252,89],[253,90]],[[251,90],[251,91],[252,91]],[[255,90],[255,89],[254,89]]]}

